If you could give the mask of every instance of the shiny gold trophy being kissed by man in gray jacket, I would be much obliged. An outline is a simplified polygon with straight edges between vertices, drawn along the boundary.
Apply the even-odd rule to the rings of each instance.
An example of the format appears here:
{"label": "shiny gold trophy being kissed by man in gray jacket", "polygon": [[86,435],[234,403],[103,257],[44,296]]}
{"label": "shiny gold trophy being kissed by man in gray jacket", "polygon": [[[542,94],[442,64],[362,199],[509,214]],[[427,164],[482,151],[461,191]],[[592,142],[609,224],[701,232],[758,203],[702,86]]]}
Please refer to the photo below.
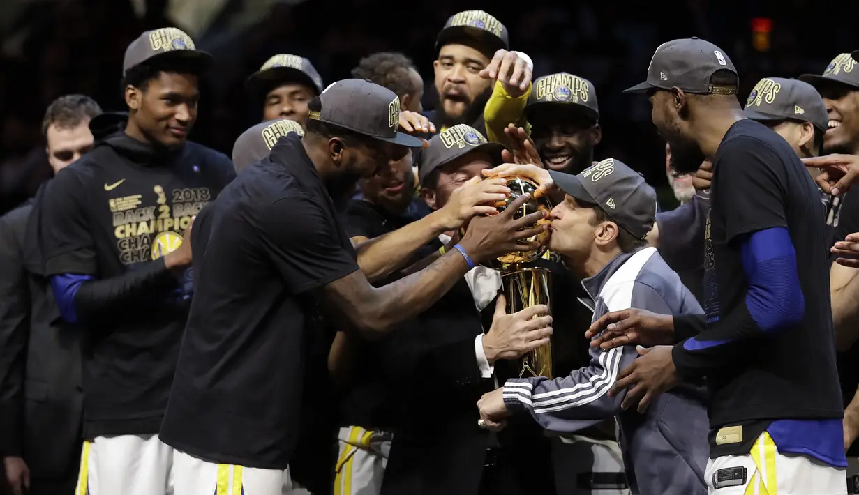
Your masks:
{"label": "shiny gold trophy being kissed by man in gray jacket", "polygon": [[[537,184],[527,178],[513,176],[507,179],[507,187],[510,196],[505,201],[505,206],[498,208],[503,210],[517,197],[530,194],[528,199],[516,212],[515,218],[521,218],[539,210],[551,211],[552,205],[549,198],[545,196],[534,197],[534,191],[538,189]],[[548,218],[539,220],[537,223],[548,223]],[[551,272],[542,267],[526,267],[527,263],[538,260],[545,254],[546,242],[550,232],[542,232],[539,235],[527,238],[528,242],[539,241],[540,247],[533,251],[512,251],[497,257],[488,263],[490,268],[501,272],[501,281],[504,296],[507,298],[507,314],[513,314],[535,305],[549,306],[551,315]],[[537,347],[533,351],[521,357],[520,377],[548,377],[553,378],[551,372],[551,343]]]}

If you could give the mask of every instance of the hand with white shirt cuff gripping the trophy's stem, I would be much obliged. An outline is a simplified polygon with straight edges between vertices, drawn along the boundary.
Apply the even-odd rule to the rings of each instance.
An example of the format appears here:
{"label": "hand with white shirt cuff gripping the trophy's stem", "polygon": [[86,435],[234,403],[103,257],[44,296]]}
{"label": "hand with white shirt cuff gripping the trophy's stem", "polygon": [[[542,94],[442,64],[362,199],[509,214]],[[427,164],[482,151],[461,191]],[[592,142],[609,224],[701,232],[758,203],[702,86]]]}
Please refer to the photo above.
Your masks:
{"label": "hand with white shirt cuff gripping the trophy's stem", "polygon": [[498,294],[492,326],[484,335],[484,354],[490,364],[498,359],[518,359],[549,343],[551,335],[549,306],[534,305],[507,314],[507,299]]}

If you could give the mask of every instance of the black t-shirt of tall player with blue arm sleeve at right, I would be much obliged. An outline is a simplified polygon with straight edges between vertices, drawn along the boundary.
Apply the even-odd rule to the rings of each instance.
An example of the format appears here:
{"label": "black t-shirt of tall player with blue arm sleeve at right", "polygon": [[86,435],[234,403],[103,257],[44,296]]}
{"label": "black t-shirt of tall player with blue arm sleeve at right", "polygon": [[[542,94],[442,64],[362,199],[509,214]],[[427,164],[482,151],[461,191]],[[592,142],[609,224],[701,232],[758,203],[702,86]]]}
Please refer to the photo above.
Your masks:
{"label": "black t-shirt of tall player with blue arm sleeve at right", "polygon": [[[789,145],[751,120],[741,120],[728,130],[713,166],[702,301],[708,328],[702,335],[710,334],[706,340],[729,341],[736,338],[732,333],[755,335],[698,351],[698,356],[690,354],[690,359],[718,357],[714,363],[721,365],[719,371],[711,366],[706,373],[710,426],[840,418],[819,190]],[[749,282],[738,238],[771,227],[789,231],[805,311],[800,323],[761,335],[745,309]],[[676,361],[678,354],[674,355]]]}

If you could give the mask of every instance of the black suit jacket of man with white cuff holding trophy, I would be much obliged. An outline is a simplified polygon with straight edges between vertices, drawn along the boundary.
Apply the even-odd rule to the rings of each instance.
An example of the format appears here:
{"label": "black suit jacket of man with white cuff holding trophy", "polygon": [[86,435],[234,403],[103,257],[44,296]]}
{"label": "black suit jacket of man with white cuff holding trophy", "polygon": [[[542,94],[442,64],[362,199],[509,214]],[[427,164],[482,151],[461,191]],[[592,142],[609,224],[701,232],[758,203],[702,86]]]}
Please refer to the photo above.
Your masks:
{"label": "black suit jacket of man with white cuff holding trophy", "polygon": [[[482,331],[462,280],[392,339],[386,360],[405,416],[393,430],[382,495],[477,495],[487,449],[496,442],[505,464],[521,467],[510,470],[504,493],[553,492],[550,452],[539,428],[511,425],[496,440],[478,426],[477,401],[494,388],[475,358],[474,339]],[[545,475],[536,475],[540,471]],[[546,486],[538,488],[535,479]]]}

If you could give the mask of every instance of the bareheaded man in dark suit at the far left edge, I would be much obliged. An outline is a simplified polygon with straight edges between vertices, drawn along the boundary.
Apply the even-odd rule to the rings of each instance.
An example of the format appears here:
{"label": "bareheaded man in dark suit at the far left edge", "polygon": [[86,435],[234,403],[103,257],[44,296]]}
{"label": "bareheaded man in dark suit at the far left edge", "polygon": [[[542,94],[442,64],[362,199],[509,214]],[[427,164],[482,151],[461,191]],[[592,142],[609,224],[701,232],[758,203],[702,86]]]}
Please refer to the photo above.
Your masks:
{"label": "bareheaded man in dark suit at the far left edge", "polygon": [[[92,148],[88,124],[99,114],[99,106],[80,94],[48,107],[42,127],[55,173]],[[34,232],[30,218],[39,197],[0,217],[3,484],[15,495],[71,495],[82,444],[81,352],[76,334],[59,317],[28,233]]]}

